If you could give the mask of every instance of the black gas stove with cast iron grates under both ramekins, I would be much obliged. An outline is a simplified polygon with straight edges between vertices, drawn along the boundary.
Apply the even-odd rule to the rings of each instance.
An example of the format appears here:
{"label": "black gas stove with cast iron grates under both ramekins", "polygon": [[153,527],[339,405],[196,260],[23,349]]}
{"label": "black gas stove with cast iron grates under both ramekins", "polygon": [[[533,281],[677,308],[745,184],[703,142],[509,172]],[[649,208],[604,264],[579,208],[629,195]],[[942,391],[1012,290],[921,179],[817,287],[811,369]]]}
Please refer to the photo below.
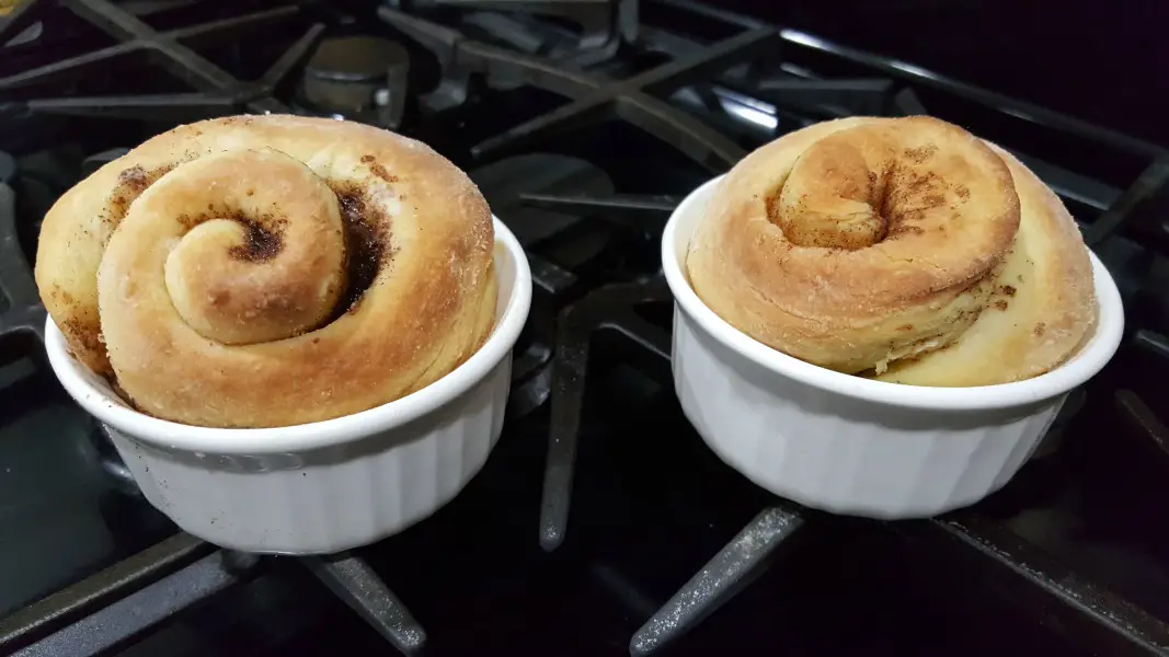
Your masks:
{"label": "black gas stove with cast iron grates under both ramekins", "polygon": [[[0,651],[1169,655],[1162,147],[686,0],[25,0],[0,21]],[[144,138],[238,112],[431,144],[532,265],[487,465],[352,553],[178,531],[44,360],[44,210]],[[753,147],[858,113],[929,113],[1015,152],[1126,300],[1121,352],[1024,470],[934,520],[777,499],[672,389],[669,213]]]}

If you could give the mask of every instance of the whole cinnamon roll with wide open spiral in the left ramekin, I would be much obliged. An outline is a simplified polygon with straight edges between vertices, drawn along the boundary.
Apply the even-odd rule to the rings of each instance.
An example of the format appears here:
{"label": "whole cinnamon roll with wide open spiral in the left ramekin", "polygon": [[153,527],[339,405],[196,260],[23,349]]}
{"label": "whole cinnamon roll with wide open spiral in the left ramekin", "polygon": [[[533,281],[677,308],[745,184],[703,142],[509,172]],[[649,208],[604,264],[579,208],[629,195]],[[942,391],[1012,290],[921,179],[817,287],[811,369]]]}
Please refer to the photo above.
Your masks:
{"label": "whole cinnamon roll with wide open spiral in the left ramekin", "polygon": [[417,141],[291,116],[154,137],[44,219],[41,298],[140,410],[278,427],[417,390],[491,332],[491,213]]}

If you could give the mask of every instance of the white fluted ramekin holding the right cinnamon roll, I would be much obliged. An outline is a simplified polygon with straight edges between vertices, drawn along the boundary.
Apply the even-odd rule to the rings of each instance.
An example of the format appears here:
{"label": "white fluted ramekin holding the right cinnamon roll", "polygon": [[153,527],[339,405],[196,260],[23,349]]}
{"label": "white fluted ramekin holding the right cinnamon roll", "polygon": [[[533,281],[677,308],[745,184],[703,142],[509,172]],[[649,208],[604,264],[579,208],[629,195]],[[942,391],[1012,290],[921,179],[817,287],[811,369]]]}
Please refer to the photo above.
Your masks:
{"label": "white fluted ramekin holding the right cinnamon roll", "polygon": [[973,504],[1018,471],[1067,393],[1120,344],[1125,316],[1092,255],[1100,320],[1057,369],[975,388],[901,386],[841,374],[772,350],[706,307],[686,249],[720,178],[670,217],[662,263],[675,296],[673,380],[686,417],[722,461],[803,505],[873,518],[920,518]]}

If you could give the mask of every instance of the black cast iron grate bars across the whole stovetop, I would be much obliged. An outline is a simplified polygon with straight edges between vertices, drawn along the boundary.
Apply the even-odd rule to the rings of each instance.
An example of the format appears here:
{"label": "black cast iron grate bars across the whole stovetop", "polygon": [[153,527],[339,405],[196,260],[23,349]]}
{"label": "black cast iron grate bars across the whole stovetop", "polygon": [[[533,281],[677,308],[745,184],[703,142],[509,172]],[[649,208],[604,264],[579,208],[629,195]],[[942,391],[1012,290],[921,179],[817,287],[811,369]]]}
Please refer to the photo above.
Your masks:
{"label": "black cast iron grate bars across the whole stovetop", "polygon": [[[171,30],[151,28],[140,15],[109,0],[65,0],[60,6],[98,27],[117,43],[2,77],[0,91],[69,82],[97,67],[140,56],[152,57],[195,91],[30,98],[16,103],[21,111],[171,123],[235,111],[290,111],[290,105],[279,99],[279,88],[302,68],[325,32],[323,23],[311,23],[258,78],[241,81],[199,55],[191,44],[237,39],[250,30],[293,18],[303,21],[305,13],[297,5]],[[475,15],[480,25],[502,25],[499,20],[504,14],[491,12],[506,9],[504,18],[512,21],[507,25],[518,32],[502,36],[505,41],[521,41],[521,19],[530,14],[570,19],[581,26],[586,37],[573,53],[549,50],[542,43],[518,51],[471,39],[463,32],[410,13],[452,8],[479,12]],[[643,9],[671,11],[690,20],[719,23],[732,35],[698,42],[666,34],[641,23]],[[48,21],[50,12],[56,11],[60,11],[58,4],[44,0],[19,5],[0,25],[0,43],[19,37],[37,21]],[[1167,196],[1169,167],[1164,164],[1167,152],[1163,148],[904,62],[689,0],[655,0],[644,7],[634,0],[523,4],[416,0],[382,4],[376,15],[433,53],[442,65],[442,83],[420,102],[431,112],[465,102],[476,76],[486,76],[500,85],[537,87],[568,99],[549,113],[480,141],[472,148],[478,158],[531,148],[561,131],[618,118],[672,146],[706,171],[721,172],[747,152],[742,144],[798,127],[809,120],[809,115],[830,118],[858,112],[928,113],[935,106],[936,96],[945,94],[981,109],[983,115],[978,116],[990,117],[971,119],[973,123],[1011,123],[1024,131],[1033,130],[1036,134],[1057,133],[1075,139],[1077,144],[1090,145],[1088,151],[1108,148],[1141,162],[1133,182],[1118,185],[1017,153],[1070,203],[1100,213],[1094,221],[1087,222],[1085,236],[1101,254],[1107,256],[1107,250],[1123,240],[1140,240],[1164,250],[1162,223],[1151,219],[1156,215],[1153,210]],[[494,22],[487,21],[491,16]],[[468,22],[473,21],[468,19]],[[648,46],[669,55],[671,61],[624,77],[586,70],[586,67],[607,63],[618,48],[636,46]],[[815,64],[825,57],[863,72],[846,77],[821,76]],[[710,118],[699,120],[679,105],[706,110],[704,116]],[[12,105],[0,105],[0,110],[12,111]],[[1032,147],[1028,140],[1023,143]],[[1042,144],[1042,139],[1036,138],[1035,144]],[[92,171],[123,152],[115,150],[94,155],[84,168]],[[15,198],[7,185],[13,178],[13,167],[7,164],[9,159],[0,153],[0,296],[4,297],[0,358],[27,355],[29,339],[41,347],[46,318],[18,240]],[[1060,161],[1064,160],[1060,158]],[[632,194],[532,193],[521,195],[521,200],[544,208],[593,214],[606,223],[641,233],[650,242],[656,240],[667,213],[678,202],[673,196]],[[551,399],[539,538],[545,549],[553,551],[565,540],[568,527],[590,341],[600,332],[620,334],[630,345],[631,358],[645,372],[665,386],[672,385],[669,332],[635,312],[638,305],[671,303],[672,299],[660,276],[579,296],[584,285],[577,272],[538,255],[530,257],[542,303],[562,310],[556,314],[555,326],[537,331],[539,334],[530,337],[518,350],[509,414],[516,417],[532,413]],[[1147,272],[1141,269],[1142,262],[1132,264],[1137,277]],[[1109,262],[1109,267],[1113,264]],[[1121,278],[1119,274],[1118,278]],[[1150,328],[1139,328],[1130,343],[1149,353],[1169,354],[1169,343]],[[1130,421],[1132,434],[1140,437],[1151,454],[1157,458],[1169,454],[1165,449],[1169,431],[1136,393],[1119,389],[1114,401]],[[780,546],[794,546],[801,534],[833,523],[832,518],[788,503],[775,500],[774,504],[762,510],[649,617],[634,636],[631,652],[648,655],[682,637],[747,586],[766,568],[768,556]],[[1092,650],[1169,653],[1169,627],[1163,622],[1068,570],[1045,551],[978,511],[960,511],[932,521],[873,523],[872,526],[904,537],[924,555],[940,558],[950,565],[962,562],[985,573],[988,581],[1005,592],[1009,600],[1045,625]],[[426,642],[424,630],[361,558],[343,554],[303,561],[399,650],[407,653],[421,650]],[[27,655],[91,655],[144,632],[215,592],[253,578],[265,562],[254,555],[215,549],[180,533],[22,611],[0,618],[0,649]],[[942,570],[946,569],[942,566]]]}

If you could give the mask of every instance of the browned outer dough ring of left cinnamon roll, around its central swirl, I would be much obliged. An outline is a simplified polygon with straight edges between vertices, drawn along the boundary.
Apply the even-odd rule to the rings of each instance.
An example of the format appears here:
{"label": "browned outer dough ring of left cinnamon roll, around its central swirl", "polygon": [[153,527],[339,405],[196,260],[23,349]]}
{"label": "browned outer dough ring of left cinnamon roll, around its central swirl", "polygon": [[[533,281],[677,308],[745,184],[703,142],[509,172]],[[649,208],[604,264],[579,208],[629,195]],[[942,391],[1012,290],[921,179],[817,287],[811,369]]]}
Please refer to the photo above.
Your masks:
{"label": "browned outer dough ring of left cinnamon roll, around its central swirl", "polygon": [[[389,243],[360,304],[314,331],[234,346],[196,333],[170,303],[127,311],[151,300],[160,272],[127,264],[148,260],[134,255],[144,245],[129,233],[111,240],[127,214],[120,206],[136,212],[127,192],[152,193],[127,188],[124,172],[171,167],[167,177],[181,177],[182,162],[263,147],[389,208],[371,213]],[[41,229],[36,281],[74,354],[98,373],[115,372],[144,412],[199,426],[288,426],[386,403],[470,357],[494,319],[493,241],[482,194],[421,143],[348,122],[230,117],[154,137],[65,193]],[[116,260],[105,258],[108,248]],[[138,297],[125,281],[143,290]]]}

